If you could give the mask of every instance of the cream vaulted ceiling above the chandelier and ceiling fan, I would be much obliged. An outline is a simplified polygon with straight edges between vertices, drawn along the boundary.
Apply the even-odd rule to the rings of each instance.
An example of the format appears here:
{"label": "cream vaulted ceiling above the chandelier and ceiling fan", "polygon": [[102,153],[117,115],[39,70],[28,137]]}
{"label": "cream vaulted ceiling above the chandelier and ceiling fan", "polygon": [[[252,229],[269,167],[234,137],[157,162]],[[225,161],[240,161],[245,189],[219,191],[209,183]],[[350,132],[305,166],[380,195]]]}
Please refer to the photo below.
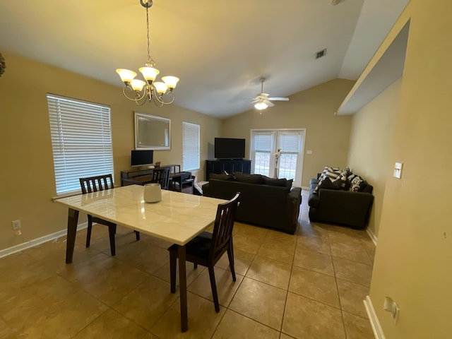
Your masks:
{"label": "cream vaulted ceiling above the chandelier and ceiling fan", "polygon": [[[261,76],[273,97],[356,80],[408,1],[154,0],[150,53],[160,75],[181,79],[175,105],[230,117],[253,108]],[[316,59],[322,49],[326,56]],[[147,58],[145,8],[139,0],[0,1],[0,52],[121,93],[115,69],[138,73]]]}

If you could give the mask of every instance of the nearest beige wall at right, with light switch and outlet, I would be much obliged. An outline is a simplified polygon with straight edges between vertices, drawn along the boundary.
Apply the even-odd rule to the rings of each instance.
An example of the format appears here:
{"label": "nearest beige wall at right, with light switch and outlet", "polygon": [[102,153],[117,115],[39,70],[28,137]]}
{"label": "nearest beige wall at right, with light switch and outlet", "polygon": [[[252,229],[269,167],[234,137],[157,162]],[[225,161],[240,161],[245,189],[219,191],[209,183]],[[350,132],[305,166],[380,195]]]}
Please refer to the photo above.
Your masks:
{"label": "nearest beige wall at right, with light switch and outlet", "polygon": [[391,32],[411,18],[390,155],[403,173],[386,181],[370,289],[388,339],[452,337],[451,13],[450,0],[412,0]]}

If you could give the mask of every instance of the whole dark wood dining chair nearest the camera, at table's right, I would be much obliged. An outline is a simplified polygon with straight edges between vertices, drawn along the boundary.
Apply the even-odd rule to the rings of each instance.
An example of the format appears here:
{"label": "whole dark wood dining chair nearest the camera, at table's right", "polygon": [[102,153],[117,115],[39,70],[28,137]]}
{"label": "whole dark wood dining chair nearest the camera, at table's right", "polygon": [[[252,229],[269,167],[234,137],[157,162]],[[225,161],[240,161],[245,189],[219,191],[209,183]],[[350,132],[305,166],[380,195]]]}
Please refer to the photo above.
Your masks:
{"label": "whole dark wood dining chair nearest the camera, at table's right", "polygon": [[[235,211],[239,205],[239,196],[240,194],[237,193],[230,201],[218,205],[213,233],[202,232],[186,244],[186,261],[194,263],[194,268],[197,268],[199,264],[207,267],[209,270],[213,304],[215,304],[215,311],[217,312],[220,311],[220,304],[218,303],[217,285],[215,283],[213,267],[218,260],[220,260],[225,251],[227,251],[232,280],[235,281],[232,227],[234,227]],[[173,244],[168,250],[171,292],[174,293],[176,292],[177,245]]]}

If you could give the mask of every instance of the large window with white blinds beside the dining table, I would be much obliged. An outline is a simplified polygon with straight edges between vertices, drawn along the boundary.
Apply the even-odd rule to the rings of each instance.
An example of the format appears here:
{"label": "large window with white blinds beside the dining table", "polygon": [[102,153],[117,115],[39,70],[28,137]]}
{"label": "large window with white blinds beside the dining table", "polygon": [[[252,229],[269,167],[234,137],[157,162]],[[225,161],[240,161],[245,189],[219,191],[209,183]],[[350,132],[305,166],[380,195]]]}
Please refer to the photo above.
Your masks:
{"label": "large window with white blinds beside the dining table", "polygon": [[57,195],[80,191],[78,178],[113,174],[110,108],[47,94]]}

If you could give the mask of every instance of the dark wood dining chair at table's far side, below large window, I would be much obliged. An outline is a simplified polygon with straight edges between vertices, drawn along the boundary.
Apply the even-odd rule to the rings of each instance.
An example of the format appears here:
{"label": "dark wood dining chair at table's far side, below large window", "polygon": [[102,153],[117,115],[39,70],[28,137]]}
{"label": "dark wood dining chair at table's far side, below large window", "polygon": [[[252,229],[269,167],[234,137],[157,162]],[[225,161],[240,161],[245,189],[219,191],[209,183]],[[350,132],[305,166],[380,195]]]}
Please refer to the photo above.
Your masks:
{"label": "dark wood dining chair at table's far side, below large window", "polygon": [[[93,193],[97,191],[104,191],[107,189],[113,189],[113,177],[112,174],[100,175],[97,177],[80,178],[80,186],[82,194]],[[116,254],[116,246],[114,244],[114,234],[116,234],[116,224],[108,220],[94,217],[88,214],[88,232],[86,234],[86,247],[90,246],[91,242],[91,230],[93,229],[93,222],[97,224],[105,225],[108,227],[109,239],[110,239],[110,251],[112,256]],[[136,240],[140,239],[140,232],[135,231]]]}

